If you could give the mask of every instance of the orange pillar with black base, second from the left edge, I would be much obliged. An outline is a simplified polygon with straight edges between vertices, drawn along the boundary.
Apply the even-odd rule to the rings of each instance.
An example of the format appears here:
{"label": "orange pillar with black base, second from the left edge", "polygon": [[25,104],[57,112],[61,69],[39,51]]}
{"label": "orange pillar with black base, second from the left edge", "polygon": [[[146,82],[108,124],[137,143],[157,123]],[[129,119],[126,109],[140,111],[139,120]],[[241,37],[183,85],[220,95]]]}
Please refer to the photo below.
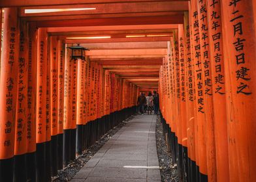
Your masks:
{"label": "orange pillar with black base, second from the left edge", "polygon": [[20,23],[20,51],[18,59],[18,89],[16,98],[16,129],[14,147],[14,181],[27,180],[27,23]]}

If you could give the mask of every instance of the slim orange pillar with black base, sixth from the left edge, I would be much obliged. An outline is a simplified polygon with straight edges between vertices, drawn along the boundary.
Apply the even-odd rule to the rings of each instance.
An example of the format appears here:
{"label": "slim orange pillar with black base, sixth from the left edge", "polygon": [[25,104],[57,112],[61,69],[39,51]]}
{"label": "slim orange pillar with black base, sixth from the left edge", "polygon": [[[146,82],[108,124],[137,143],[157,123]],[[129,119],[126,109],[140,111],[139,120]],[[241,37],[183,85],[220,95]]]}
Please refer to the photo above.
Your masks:
{"label": "slim orange pillar with black base, sixth from the left edge", "polygon": [[57,42],[57,169],[63,168],[63,122],[64,122],[64,74],[65,44]]}

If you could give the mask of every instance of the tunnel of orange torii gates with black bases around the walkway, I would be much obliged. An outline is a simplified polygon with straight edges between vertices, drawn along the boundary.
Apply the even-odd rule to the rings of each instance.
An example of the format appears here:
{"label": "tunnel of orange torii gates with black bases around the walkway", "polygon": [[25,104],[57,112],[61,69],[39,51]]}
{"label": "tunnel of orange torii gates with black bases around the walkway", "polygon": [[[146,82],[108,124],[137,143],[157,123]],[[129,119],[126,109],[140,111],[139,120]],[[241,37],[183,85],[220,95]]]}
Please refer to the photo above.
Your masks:
{"label": "tunnel of orange torii gates with black bases around the walkway", "polygon": [[0,181],[50,181],[153,90],[182,181],[256,180],[256,1],[0,7]]}

